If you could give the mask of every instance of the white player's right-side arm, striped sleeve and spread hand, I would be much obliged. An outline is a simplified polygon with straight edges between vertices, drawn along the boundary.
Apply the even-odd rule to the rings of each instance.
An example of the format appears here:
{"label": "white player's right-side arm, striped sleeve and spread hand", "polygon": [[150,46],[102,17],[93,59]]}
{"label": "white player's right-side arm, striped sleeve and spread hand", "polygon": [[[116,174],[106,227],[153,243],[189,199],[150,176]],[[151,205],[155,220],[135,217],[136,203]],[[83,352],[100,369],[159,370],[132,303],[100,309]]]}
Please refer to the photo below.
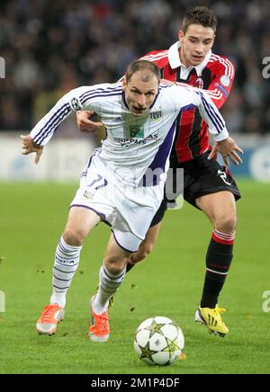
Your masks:
{"label": "white player's right-side arm, striped sleeve and spread hand", "polygon": [[242,159],[238,156],[238,153],[243,154],[243,151],[238,147],[233,138],[229,137],[229,132],[226,129],[225,121],[222,118],[220,111],[217,110],[215,104],[205,92],[196,89],[193,94],[197,97],[194,101],[197,101],[196,106],[200,111],[202,119],[207,122],[209,132],[213,135],[216,142],[209,159],[212,159],[219,151],[225,165],[229,165],[229,159],[235,165],[241,164]]}

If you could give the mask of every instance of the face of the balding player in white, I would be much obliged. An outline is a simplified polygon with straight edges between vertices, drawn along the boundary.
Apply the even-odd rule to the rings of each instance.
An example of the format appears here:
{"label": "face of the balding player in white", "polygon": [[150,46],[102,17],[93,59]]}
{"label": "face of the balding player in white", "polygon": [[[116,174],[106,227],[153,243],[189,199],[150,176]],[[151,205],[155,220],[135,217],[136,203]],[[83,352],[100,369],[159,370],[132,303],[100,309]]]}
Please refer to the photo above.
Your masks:
{"label": "face of the balding player in white", "polygon": [[154,102],[158,92],[158,80],[155,75],[144,82],[141,72],[133,74],[130,81],[123,79],[122,88],[125,99],[132,114],[141,116],[145,114]]}

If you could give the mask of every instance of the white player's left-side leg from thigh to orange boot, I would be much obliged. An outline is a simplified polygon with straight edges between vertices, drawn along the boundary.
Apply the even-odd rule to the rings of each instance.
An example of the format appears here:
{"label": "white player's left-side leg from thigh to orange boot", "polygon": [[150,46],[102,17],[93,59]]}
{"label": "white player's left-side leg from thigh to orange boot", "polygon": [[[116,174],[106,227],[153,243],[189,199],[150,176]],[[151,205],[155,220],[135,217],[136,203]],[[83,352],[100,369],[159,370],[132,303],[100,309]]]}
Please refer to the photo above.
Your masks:
{"label": "white player's left-side leg from thigh to orange boot", "polygon": [[100,220],[91,209],[73,207],[69,210],[67,225],[55,254],[50,304],[44,307],[36,325],[40,334],[54,334],[58,322],[63,319],[67,290],[76,273],[82,245]]}

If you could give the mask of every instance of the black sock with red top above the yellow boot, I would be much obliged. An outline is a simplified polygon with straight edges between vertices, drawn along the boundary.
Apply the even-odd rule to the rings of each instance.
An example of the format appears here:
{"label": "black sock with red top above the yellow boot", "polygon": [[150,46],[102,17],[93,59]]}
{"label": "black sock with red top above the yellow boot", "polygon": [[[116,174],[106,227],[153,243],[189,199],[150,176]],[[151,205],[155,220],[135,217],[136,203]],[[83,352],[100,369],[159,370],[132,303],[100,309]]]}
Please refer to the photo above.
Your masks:
{"label": "black sock with red top above the yellow boot", "polygon": [[215,307],[232,261],[235,233],[226,235],[213,231],[206,254],[206,273],[201,307]]}

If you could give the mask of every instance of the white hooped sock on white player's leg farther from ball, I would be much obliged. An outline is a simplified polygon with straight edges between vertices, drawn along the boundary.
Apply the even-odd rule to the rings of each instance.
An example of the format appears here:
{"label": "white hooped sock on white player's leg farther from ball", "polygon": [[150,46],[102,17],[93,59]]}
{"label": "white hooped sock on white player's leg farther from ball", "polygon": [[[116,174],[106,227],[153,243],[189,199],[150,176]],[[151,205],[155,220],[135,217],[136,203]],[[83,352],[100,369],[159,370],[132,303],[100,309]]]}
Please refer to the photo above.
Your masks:
{"label": "white hooped sock on white player's leg farther from ball", "polygon": [[51,304],[58,304],[61,307],[65,307],[67,290],[78,267],[81,249],[82,246],[67,245],[61,236],[53,266]]}

